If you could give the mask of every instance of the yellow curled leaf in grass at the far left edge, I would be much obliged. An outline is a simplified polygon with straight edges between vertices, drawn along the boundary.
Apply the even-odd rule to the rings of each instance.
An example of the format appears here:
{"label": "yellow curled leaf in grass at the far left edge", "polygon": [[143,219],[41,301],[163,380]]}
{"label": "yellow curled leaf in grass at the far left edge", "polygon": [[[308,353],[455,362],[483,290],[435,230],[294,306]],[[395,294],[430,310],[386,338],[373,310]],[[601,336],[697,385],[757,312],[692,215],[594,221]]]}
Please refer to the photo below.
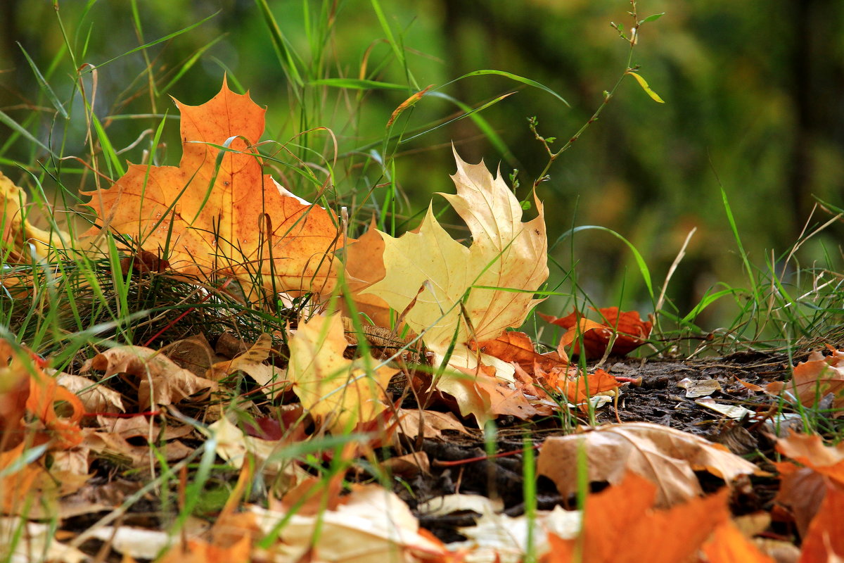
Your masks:
{"label": "yellow curled leaf in grass at the far left edge", "polygon": [[0,212],[0,256],[3,262],[29,263],[30,247],[35,257],[47,257],[53,248],[63,248],[64,241],[69,241],[68,233],[61,230],[41,230],[30,223],[30,210],[26,203],[26,192],[14,185],[14,182],[0,172],[0,200],[3,211]]}

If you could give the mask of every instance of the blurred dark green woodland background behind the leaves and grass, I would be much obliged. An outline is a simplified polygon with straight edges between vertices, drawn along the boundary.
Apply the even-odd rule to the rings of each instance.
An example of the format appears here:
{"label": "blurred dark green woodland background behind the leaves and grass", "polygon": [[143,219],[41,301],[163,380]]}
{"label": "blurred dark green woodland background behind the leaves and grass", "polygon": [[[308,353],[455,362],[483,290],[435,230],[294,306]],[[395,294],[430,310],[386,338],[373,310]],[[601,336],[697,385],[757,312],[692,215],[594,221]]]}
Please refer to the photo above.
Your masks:
{"label": "blurred dark green woodland background behind the leaves and grass", "polygon": [[[548,161],[527,118],[536,116],[539,133],[558,138],[553,146],[576,133],[626,68],[629,43],[610,22],[627,30],[632,23],[624,0],[268,0],[268,7],[278,36],[295,53],[292,66],[279,62],[268,19],[250,0],[3,0],[3,171],[24,186],[31,186],[32,178],[15,165],[34,171],[46,187],[54,176],[68,189],[90,189],[95,177],[80,162],[90,165],[101,156],[96,144],[92,156],[86,141],[79,84],[88,100],[95,92],[95,114],[121,157],[139,162],[164,112],[176,113],[168,96],[203,103],[219,90],[227,71],[233,88],[249,89],[253,100],[268,107],[264,138],[277,143],[264,145],[263,152],[292,165],[298,156],[321,177],[331,165],[328,197],[349,205],[360,225],[381,211],[394,182],[396,228],[412,228],[433,192],[452,190],[452,142],[464,160],[500,163],[505,176],[517,170],[517,195],[527,198]],[[668,287],[684,315],[707,290],[724,287],[719,284],[747,284],[719,181],[744,249],[762,269],[780,262],[807,221],[820,225],[830,219],[823,210],[809,219],[816,198],[844,207],[844,3],[638,3],[640,19],[663,12],[642,25],[633,63],[666,103],[655,103],[625,78],[598,122],[555,162],[538,192],[546,203],[551,244],[577,225],[612,229],[645,257],[657,293],[686,235],[696,228]],[[125,54],[212,14],[168,41]],[[24,51],[68,109],[69,120],[51,105]],[[457,102],[478,107],[516,91],[477,114],[498,141],[469,118],[407,142],[384,141],[392,112],[409,95],[479,69],[532,78],[571,108],[542,89],[475,76],[425,95],[391,131],[409,138],[459,116]],[[314,84],[323,78],[367,78],[408,88]],[[9,121],[65,160],[49,158],[8,127]],[[331,129],[337,160],[325,131],[300,135],[314,127]],[[157,160],[176,164],[175,119],[164,139]],[[100,168],[109,175],[106,165]],[[317,192],[284,166],[275,168],[294,192],[306,198]],[[436,198],[435,207],[446,208],[444,200]],[[444,217],[453,219],[447,210]],[[381,221],[391,226],[383,216]],[[841,271],[842,232],[839,222],[807,241],[798,252],[800,264]],[[562,290],[571,290],[574,267],[577,284],[596,305],[637,307],[643,314],[652,309],[621,241],[594,230],[571,241],[566,238],[551,252],[552,287],[562,282]],[[785,270],[786,283],[792,281],[792,266]],[[564,305],[558,298],[542,308],[561,313]],[[698,323],[711,329],[729,322],[733,306],[712,307]]]}

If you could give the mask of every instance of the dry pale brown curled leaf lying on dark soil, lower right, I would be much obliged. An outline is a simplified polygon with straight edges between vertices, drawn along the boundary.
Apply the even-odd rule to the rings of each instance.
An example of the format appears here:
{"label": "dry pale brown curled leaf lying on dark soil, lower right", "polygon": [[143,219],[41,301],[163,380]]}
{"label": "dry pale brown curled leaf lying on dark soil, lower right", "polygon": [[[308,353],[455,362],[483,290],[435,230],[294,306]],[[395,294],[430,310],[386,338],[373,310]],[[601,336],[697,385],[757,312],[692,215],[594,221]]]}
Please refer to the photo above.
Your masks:
{"label": "dry pale brown curled leaf lying on dark soil, lower right", "polygon": [[753,463],[700,436],[647,422],[604,425],[573,436],[548,438],[539,452],[538,474],[555,482],[561,495],[577,490],[577,450],[584,447],[588,479],[618,484],[632,472],[658,485],[657,508],[701,495],[695,471],[706,470],[728,483],[758,474]]}

